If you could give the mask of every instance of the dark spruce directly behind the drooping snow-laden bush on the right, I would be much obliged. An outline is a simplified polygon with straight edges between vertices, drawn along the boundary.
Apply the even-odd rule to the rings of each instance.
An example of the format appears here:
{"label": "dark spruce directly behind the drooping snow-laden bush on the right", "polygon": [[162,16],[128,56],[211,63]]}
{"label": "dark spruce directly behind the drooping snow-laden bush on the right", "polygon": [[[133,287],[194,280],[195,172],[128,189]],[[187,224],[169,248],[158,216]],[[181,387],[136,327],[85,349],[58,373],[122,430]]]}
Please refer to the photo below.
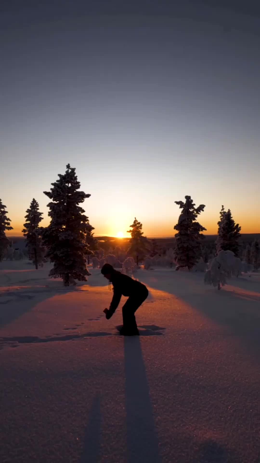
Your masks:
{"label": "dark spruce directly behind the drooping snow-laden bush on the right", "polygon": [[217,254],[219,251],[232,251],[235,257],[238,257],[239,243],[241,237],[241,226],[235,224],[232,218],[230,209],[225,212],[222,206],[220,212],[220,221],[218,222],[218,237],[217,237]]}

